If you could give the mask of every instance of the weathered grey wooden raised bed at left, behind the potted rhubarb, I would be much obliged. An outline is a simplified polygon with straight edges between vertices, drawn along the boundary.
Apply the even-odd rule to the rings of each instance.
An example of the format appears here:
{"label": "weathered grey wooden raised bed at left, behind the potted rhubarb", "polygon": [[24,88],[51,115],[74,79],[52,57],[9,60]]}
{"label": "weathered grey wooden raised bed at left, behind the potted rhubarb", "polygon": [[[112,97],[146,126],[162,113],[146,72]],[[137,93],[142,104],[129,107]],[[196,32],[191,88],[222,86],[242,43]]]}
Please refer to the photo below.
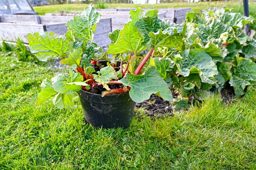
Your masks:
{"label": "weathered grey wooden raised bed at left, behind the potted rhubarb", "polygon": [[[65,24],[72,16],[38,16],[38,15],[0,15],[0,39],[15,42],[17,38],[25,43],[27,33],[52,31],[61,35],[67,32]],[[99,21],[94,42],[99,46],[109,45],[111,40],[108,33],[112,31],[111,18],[103,18]]]}

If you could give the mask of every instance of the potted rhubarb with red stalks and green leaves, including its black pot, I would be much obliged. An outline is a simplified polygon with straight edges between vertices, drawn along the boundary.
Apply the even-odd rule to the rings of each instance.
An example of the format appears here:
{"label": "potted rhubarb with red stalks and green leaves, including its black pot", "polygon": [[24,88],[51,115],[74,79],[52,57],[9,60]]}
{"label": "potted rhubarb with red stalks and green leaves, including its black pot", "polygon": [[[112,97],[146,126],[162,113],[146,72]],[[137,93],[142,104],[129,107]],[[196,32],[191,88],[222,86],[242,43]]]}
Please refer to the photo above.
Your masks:
{"label": "potted rhubarb with red stalks and green leaves, including its black pot", "polygon": [[76,108],[72,94],[78,93],[87,123],[127,128],[135,102],[151,94],[172,101],[171,80],[161,76],[152,56],[157,48],[183,46],[186,25],[159,19],[157,13],[154,9],[143,17],[142,9],[131,10],[124,28],[109,34],[113,43],[105,53],[93,42],[101,15],[92,5],[67,22],[65,35],[27,34],[30,50],[39,60],[62,58],[60,63],[70,66],[68,73],[42,82],[36,104],[52,99],[59,109]]}

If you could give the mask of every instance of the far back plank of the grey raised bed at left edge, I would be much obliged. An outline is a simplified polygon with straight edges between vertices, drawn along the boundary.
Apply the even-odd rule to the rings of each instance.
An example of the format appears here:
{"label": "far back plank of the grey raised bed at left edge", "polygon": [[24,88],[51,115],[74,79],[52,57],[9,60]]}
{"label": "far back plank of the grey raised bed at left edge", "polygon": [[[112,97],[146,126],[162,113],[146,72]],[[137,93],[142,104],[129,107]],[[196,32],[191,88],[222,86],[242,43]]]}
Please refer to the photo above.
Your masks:
{"label": "far back plank of the grey raised bed at left edge", "polygon": [[3,23],[40,24],[40,19],[37,15],[1,14],[0,21]]}

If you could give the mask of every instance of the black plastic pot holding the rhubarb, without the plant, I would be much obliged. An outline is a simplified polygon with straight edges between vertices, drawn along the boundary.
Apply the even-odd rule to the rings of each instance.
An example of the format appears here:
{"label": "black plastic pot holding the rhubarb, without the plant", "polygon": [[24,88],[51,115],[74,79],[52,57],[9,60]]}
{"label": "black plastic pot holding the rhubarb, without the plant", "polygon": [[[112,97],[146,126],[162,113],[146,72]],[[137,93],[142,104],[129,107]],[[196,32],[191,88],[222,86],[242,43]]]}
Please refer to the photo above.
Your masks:
{"label": "black plastic pot holding the rhubarb, without the plant", "polygon": [[129,93],[101,97],[100,94],[80,90],[78,94],[87,123],[103,128],[129,127],[135,108]]}

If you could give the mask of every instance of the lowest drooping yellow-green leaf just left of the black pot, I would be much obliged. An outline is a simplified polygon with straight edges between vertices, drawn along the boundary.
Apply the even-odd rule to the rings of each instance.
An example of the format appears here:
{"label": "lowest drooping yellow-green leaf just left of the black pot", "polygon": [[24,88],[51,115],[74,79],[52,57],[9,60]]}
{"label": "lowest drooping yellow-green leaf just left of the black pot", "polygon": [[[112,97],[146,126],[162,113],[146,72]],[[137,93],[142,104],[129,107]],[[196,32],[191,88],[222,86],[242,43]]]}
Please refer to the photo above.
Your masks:
{"label": "lowest drooping yellow-green leaf just left of the black pot", "polygon": [[74,109],[77,108],[74,101],[72,100],[72,96],[69,94],[61,94],[58,93],[53,98],[53,104],[57,106],[59,109]]}

